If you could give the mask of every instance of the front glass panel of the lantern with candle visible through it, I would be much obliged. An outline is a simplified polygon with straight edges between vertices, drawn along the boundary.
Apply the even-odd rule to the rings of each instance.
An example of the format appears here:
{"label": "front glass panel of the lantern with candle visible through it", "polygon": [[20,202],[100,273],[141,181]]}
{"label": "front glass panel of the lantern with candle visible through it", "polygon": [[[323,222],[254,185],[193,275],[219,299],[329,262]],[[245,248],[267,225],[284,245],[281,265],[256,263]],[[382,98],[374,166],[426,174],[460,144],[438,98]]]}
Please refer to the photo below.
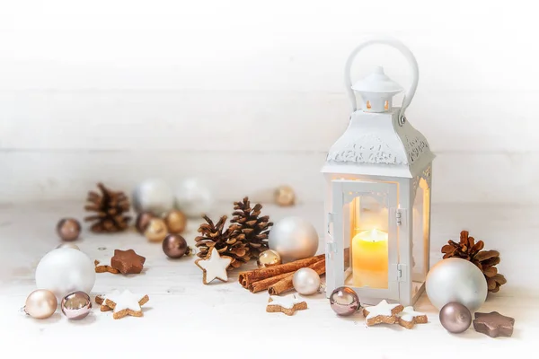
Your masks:
{"label": "front glass panel of the lantern with candle visible through it", "polygon": [[[356,193],[358,194],[358,193]],[[349,262],[345,284],[353,287],[388,288],[388,194],[361,193],[345,205],[349,226]]]}

